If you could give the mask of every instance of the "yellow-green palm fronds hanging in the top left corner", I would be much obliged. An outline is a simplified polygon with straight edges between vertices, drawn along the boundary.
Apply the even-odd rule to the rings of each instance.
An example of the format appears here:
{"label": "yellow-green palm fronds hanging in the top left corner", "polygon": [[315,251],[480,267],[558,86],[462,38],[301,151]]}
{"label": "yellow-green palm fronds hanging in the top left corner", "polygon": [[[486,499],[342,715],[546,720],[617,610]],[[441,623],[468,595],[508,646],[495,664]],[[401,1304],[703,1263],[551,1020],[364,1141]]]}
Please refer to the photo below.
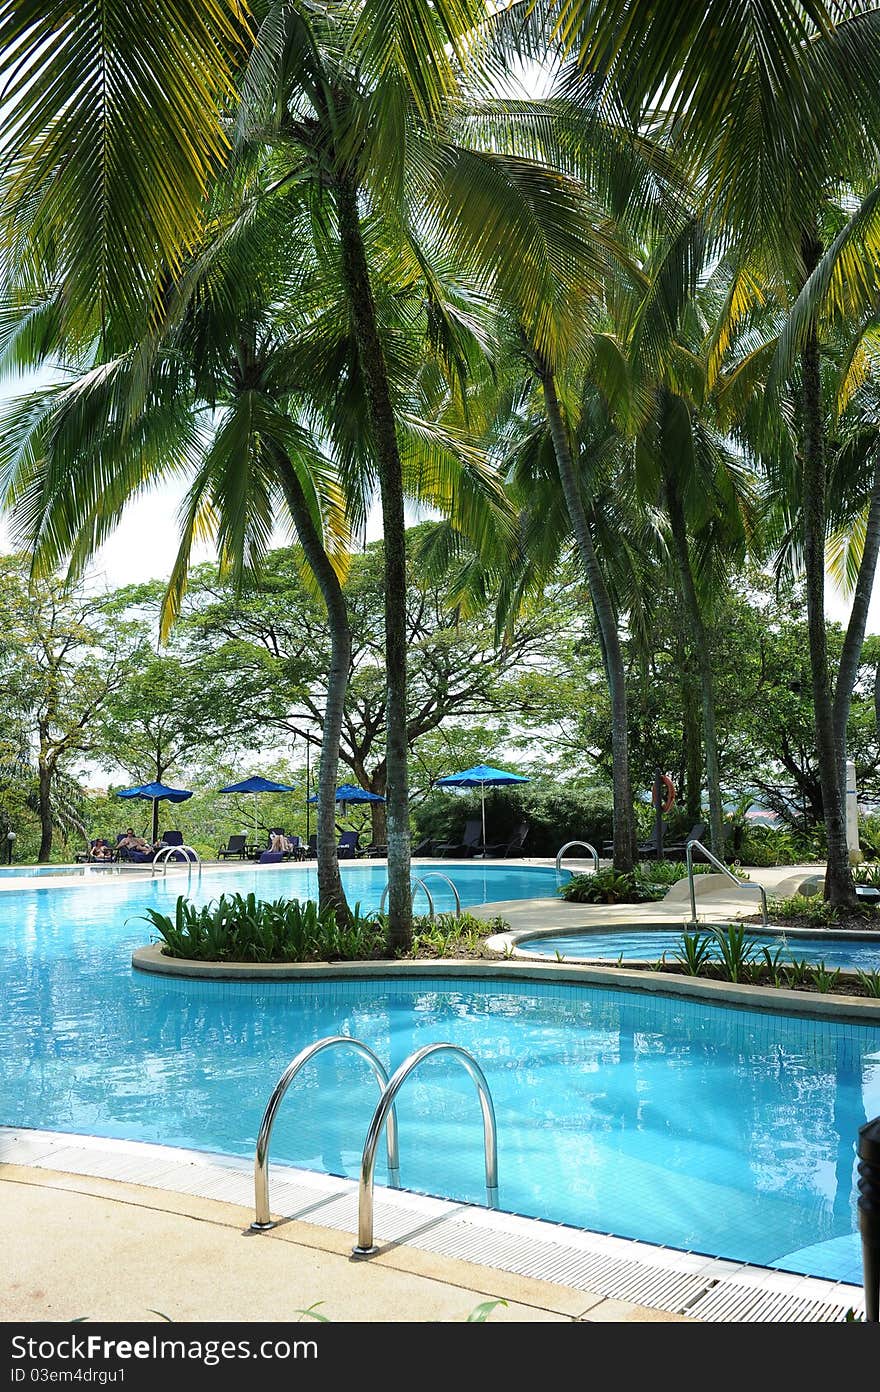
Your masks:
{"label": "yellow-green palm fronds hanging in the top left corner", "polygon": [[7,0],[0,26],[4,270],[52,264],[56,320],[136,334],[224,164],[246,6]]}

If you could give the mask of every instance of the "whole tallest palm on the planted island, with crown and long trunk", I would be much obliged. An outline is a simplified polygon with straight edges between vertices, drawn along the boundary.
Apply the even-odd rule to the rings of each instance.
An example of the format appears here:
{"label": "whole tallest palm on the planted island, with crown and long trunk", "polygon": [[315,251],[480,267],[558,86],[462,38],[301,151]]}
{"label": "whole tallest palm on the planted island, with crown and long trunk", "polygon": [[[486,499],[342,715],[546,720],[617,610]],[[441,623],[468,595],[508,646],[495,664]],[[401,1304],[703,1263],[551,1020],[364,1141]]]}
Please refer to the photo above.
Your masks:
{"label": "whole tallest palm on the planted island, with crown and long trunk", "polygon": [[[549,263],[561,283],[595,260],[569,180],[537,159],[498,152],[462,114],[486,11],[479,0],[439,0],[391,11],[363,0],[337,13],[256,7],[255,49],[242,88],[244,149],[267,145],[276,187],[313,210],[317,235],[336,219],[341,280],[366,400],[382,500],[386,567],[388,919],[394,944],[411,937],[407,774],[405,525],[401,416],[377,315],[387,252],[422,266],[432,333],[459,326],[439,312],[425,244],[455,258],[475,285],[515,291],[543,347]],[[497,111],[496,111],[497,116]],[[482,135],[483,132],[479,132]],[[320,210],[320,212],[317,212]],[[457,358],[453,358],[457,365]]]}

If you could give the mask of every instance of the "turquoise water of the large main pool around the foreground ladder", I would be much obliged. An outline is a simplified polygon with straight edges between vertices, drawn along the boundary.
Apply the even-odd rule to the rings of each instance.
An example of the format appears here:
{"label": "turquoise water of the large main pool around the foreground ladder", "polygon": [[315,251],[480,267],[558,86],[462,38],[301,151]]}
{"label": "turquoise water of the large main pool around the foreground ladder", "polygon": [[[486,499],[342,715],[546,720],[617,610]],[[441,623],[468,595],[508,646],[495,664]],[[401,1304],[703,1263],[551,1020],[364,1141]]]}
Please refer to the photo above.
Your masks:
{"label": "turquoise water of the large main pool around the foreground ladder", "polygon": [[[284,892],[297,871],[270,873]],[[504,896],[547,880],[501,873],[525,876],[505,878]],[[358,874],[373,878],[352,867],[352,898]],[[501,896],[496,874],[454,870],[469,902]],[[493,1091],[504,1208],[815,1275],[840,1276],[841,1249],[856,1260],[854,1147],[880,1112],[880,1026],[558,983],[132,972],[143,905],[173,902],[181,880],[0,895],[0,1122],[252,1158],[272,1087],[306,1044],[349,1033],[395,1068],[451,1040]],[[202,892],[217,880],[269,885],[266,867],[242,867],[206,873]],[[278,1114],[273,1160],[355,1176],[375,1100],[359,1059],[323,1055]],[[430,1061],[398,1114],[404,1185],[480,1203],[482,1128],[464,1072]]]}

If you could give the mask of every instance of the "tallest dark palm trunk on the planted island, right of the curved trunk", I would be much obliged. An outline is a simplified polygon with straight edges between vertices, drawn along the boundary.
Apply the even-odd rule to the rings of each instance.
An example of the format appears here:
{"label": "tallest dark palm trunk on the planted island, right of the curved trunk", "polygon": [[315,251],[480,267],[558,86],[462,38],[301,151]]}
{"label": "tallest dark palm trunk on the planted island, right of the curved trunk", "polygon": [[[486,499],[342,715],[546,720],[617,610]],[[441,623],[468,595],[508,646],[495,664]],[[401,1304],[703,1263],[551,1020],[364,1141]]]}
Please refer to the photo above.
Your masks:
{"label": "tallest dark palm trunk on the planted island, right of the curved trunk", "polygon": [[358,189],[349,180],[337,184],[343,278],[348,294],[358,358],[382,497],[384,535],[386,628],[386,818],[388,832],[388,944],[405,951],[412,942],[409,888],[409,778],[407,770],[407,525],[404,480],[394,427],[394,406],[384,352],[376,323],[376,305],[361,234]]}

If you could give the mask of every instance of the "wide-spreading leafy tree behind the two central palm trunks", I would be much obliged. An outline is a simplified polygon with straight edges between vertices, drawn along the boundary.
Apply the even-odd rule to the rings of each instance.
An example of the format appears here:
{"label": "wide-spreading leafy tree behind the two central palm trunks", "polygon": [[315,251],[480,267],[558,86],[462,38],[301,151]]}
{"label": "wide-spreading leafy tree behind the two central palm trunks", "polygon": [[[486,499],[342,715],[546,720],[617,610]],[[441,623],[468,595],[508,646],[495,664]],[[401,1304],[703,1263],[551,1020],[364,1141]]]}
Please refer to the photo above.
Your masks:
{"label": "wide-spreading leafy tree behind the two central palm trunks", "polygon": [[[430,580],[418,564],[427,526],[411,530],[407,583],[408,715],[407,746],[416,786],[458,767],[457,750],[487,752],[543,721],[532,703],[528,674],[544,661],[561,635],[576,622],[560,586],[524,615],[512,632],[498,635],[493,600],[462,612],[447,585]],[[384,692],[383,546],[372,543],[352,558],[344,594],[352,632],[351,671],[343,720],[340,759],[349,781],[384,795],[387,734]],[[195,575],[184,628],[202,644],[207,661],[226,674],[242,718],[317,746],[327,672],[327,622],[302,585],[290,551],[267,558],[258,586],[235,596],[207,568]],[[462,742],[466,734],[466,745]],[[426,741],[436,736],[426,746]],[[475,741],[482,741],[478,748]],[[384,844],[384,806],[372,807],[372,838]]]}

